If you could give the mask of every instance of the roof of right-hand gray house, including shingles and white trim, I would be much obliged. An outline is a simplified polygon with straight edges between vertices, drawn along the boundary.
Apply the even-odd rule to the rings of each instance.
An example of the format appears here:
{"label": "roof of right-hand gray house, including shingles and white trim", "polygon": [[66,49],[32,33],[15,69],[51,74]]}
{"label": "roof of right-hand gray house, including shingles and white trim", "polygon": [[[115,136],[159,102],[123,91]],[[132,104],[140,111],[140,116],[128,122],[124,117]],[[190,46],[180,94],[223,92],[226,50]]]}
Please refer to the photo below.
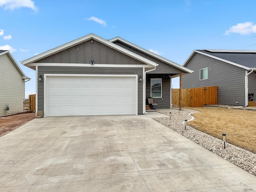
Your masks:
{"label": "roof of right-hand gray house, including shingles and white trim", "polygon": [[196,53],[221,60],[246,70],[256,69],[256,50],[194,50],[183,66],[186,66]]}

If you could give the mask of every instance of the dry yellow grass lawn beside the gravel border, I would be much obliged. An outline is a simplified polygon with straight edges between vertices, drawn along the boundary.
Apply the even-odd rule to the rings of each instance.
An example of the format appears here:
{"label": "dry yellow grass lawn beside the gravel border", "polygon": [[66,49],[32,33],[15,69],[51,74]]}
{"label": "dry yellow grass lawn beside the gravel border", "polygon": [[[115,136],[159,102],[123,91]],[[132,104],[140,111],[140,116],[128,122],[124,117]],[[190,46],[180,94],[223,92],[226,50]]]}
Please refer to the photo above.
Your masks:
{"label": "dry yellow grass lawn beside the gravel border", "polygon": [[194,120],[188,125],[256,154],[256,110],[228,109],[221,107],[190,108],[200,113],[191,114]]}

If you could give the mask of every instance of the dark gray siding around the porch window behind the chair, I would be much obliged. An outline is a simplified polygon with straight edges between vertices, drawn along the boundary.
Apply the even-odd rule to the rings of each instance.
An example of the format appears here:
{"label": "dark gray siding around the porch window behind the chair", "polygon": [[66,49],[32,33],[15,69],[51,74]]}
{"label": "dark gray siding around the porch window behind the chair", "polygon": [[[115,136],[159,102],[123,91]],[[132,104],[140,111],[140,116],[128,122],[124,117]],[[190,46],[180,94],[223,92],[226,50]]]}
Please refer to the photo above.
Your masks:
{"label": "dark gray siding around the porch window behind the chair", "polygon": [[[162,78],[162,98],[154,98],[158,105],[156,109],[170,109],[170,77],[169,75],[147,74],[146,77],[146,99],[151,97],[151,78]],[[147,103],[147,101],[146,101]]]}

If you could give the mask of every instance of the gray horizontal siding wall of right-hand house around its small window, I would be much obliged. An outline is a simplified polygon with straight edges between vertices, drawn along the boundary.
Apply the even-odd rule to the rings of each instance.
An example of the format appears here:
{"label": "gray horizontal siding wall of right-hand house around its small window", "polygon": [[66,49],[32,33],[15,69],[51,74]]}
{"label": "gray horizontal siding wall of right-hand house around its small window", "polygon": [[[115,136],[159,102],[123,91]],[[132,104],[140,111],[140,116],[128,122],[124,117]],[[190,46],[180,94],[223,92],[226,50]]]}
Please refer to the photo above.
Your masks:
{"label": "gray horizontal siding wall of right-hand house around its small window", "polygon": [[[219,104],[245,105],[244,69],[199,53],[185,67],[194,72],[182,76],[182,88],[218,86]],[[208,79],[200,80],[200,70],[204,68],[208,68]]]}

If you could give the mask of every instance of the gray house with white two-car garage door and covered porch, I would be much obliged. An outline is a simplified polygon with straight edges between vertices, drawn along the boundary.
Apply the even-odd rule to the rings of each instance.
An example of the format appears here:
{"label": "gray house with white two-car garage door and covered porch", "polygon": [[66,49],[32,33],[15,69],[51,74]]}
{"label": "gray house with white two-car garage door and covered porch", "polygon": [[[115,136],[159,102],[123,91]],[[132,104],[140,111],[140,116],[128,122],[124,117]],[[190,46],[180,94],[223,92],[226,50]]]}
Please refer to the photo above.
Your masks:
{"label": "gray house with white two-car garage door and covered porch", "polygon": [[171,78],[191,73],[122,38],[95,34],[21,62],[36,70],[36,111],[46,116],[144,114],[146,98],[171,108]]}

